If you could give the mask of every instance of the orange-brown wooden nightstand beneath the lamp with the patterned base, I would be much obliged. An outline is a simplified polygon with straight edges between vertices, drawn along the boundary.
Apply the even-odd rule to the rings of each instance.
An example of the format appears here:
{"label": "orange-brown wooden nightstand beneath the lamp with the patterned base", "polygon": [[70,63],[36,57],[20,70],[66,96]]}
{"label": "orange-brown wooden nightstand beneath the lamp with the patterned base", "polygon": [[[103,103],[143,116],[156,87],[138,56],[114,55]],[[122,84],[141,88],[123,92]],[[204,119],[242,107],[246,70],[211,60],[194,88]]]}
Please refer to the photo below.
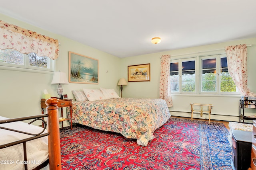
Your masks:
{"label": "orange-brown wooden nightstand beneath the lamp with the patterned base", "polygon": [[[61,117],[63,117],[63,107],[70,107],[70,119],[69,118],[63,118],[60,119],[59,122],[61,122],[61,125],[63,127],[63,121],[70,120],[70,126],[72,130],[72,99],[59,99],[58,100],[58,107],[61,109]],[[41,99],[41,109],[42,114],[44,114],[44,109],[46,108],[45,99]],[[44,127],[44,124],[43,124]]]}

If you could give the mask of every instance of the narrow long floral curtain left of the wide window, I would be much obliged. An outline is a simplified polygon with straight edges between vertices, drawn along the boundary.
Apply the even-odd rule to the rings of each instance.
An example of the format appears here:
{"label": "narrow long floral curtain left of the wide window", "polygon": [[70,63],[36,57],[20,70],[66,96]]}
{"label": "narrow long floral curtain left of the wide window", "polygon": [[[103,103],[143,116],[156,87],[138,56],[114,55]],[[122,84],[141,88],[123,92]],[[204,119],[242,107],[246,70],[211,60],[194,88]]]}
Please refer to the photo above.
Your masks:
{"label": "narrow long floral curtain left of the wide window", "polygon": [[172,107],[171,85],[170,85],[170,64],[171,56],[161,56],[160,72],[160,99],[166,101],[168,107]]}

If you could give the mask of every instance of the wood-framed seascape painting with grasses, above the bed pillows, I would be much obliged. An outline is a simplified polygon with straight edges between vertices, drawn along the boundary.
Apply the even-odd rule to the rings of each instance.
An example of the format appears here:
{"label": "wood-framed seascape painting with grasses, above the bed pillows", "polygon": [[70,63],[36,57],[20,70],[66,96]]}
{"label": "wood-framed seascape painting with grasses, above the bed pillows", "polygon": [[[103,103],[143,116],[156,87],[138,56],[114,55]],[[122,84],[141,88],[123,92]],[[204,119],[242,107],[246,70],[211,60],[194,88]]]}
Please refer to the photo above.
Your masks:
{"label": "wood-framed seascape painting with grasses, above the bed pillows", "polygon": [[68,52],[68,82],[83,84],[99,84],[99,60]]}

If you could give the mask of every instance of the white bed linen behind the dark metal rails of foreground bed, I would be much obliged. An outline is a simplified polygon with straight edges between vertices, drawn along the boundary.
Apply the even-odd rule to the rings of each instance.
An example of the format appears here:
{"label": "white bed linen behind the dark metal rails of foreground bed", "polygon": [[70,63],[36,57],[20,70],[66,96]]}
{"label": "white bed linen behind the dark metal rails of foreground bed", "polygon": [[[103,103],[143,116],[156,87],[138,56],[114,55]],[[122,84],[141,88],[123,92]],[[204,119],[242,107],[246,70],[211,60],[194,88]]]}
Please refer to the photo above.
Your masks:
{"label": "white bed linen behind the dark metal rails of foreground bed", "polygon": [[[5,119],[8,118],[0,116],[0,120]],[[10,129],[16,129],[19,131],[25,131],[28,133],[39,133],[43,129],[42,127],[31,124],[28,125],[28,123],[24,122],[4,123],[0,124],[0,126]],[[44,133],[46,132],[47,131],[45,131]],[[28,137],[32,136],[0,129],[0,145],[18,141],[20,139],[25,139]],[[0,161],[2,161],[0,162],[0,170],[22,170],[24,169],[24,163],[28,164],[28,169],[32,169],[48,159],[48,136],[28,141],[26,143],[26,147],[28,162],[24,162],[22,144],[0,149]]]}

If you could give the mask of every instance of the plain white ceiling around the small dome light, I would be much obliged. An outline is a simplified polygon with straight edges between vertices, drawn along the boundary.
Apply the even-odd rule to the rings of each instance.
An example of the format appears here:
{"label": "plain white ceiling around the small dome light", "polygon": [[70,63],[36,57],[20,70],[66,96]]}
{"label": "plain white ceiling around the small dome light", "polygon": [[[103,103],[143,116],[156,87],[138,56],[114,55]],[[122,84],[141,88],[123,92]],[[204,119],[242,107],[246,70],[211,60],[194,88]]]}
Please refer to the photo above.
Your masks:
{"label": "plain white ceiling around the small dome light", "polygon": [[256,0],[4,0],[0,13],[122,58],[256,37],[255,8]]}

